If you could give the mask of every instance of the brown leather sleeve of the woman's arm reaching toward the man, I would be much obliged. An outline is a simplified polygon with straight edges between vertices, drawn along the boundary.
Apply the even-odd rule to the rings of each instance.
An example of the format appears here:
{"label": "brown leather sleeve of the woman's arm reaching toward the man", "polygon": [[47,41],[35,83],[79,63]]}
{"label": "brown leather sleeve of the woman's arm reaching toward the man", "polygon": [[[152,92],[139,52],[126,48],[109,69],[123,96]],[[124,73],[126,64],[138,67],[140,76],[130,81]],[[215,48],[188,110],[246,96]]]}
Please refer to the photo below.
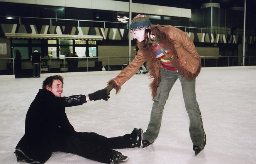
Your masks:
{"label": "brown leather sleeve of the woman's arm reaching toward the man", "polygon": [[108,84],[111,84],[114,89],[116,89],[116,94],[120,91],[121,85],[123,85],[127,80],[129,80],[145,62],[145,57],[139,50],[137,55],[132,60],[132,62],[125,67],[124,70],[120,72],[114,79],[111,79]]}

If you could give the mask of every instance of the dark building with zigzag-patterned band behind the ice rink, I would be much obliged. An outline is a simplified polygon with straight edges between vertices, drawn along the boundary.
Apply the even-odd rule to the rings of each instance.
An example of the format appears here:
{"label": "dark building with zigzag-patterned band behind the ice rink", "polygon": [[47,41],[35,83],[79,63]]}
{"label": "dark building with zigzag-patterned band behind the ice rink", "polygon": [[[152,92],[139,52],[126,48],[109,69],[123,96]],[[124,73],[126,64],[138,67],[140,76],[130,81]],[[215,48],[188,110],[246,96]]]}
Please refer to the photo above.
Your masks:
{"label": "dark building with zigzag-patterned band behind the ice rink", "polygon": [[[240,66],[243,64],[244,4],[242,1],[216,2],[134,0],[132,18],[144,13],[153,24],[173,25],[183,30],[202,56],[203,67]],[[253,19],[256,13],[251,8],[249,6],[246,13],[245,65],[256,64]],[[0,72],[12,70],[9,58],[15,58],[15,49],[22,54],[23,71],[32,69],[29,59],[34,49],[56,59],[52,61],[51,71],[62,71],[64,60],[60,58],[66,57],[68,50],[83,57],[79,62],[80,71],[102,70],[102,66],[123,69],[129,61],[127,18],[128,0],[3,0],[0,2],[3,51]],[[132,49],[135,46],[136,40],[132,40]],[[132,52],[132,57],[134,55]]]}

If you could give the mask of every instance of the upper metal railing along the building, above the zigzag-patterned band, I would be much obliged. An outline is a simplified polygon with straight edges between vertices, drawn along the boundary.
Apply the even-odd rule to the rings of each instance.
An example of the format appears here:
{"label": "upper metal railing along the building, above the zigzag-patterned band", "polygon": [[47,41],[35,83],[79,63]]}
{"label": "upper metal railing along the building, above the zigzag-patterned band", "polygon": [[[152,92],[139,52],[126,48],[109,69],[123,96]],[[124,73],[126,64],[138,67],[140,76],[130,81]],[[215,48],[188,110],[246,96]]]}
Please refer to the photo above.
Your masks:
{"label": "upper metal railing along the building, above the zigzag-patterned band", "polygon": [[[96,21],[96,20],[76,20],[76,19],[62,19],[62,18],[39,18],[39,17],[19,17],[12,16],[7,18],[6,16],[0,16],[0,22],[7,24],[36,24],[36,25],[63,25],[63,26],[76,26],[76,27],[102,27],[102,28],[124,28],[129,29],[129,23],[122,22],[109,22],[109,21]],[[166,25],[161,25],[166,26]],[[225,34],[225,35],[242,35],[243,31],[233,31],[231,28],[217,27],[211,28],[198,28],[198,27],[185,27],[185,26],[174,26],[184,32],[193,33],[213,33],[213,34]],[[247,32],[246,35],[254,36],[255,33]]]}

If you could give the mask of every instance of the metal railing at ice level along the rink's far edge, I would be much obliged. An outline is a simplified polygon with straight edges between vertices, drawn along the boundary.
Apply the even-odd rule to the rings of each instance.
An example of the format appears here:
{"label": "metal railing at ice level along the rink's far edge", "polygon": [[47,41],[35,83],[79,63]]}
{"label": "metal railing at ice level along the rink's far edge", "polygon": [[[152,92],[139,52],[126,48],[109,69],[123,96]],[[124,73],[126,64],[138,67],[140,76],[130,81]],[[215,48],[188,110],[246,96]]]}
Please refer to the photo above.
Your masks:
{"label": "metal railing at ice level along the rink's far edge", "polygon": [[[68,70],[68,59],[69,58],[42,58],[41,59],[41,73],[58,73],[58,72],[70,72]],[[131,57],[132,58],[132,57]],[[47,65],[44,60],[51,59],[50,71],[47,70]],[[77,59],[77,58],[76,58]],[[79,57],[79,72],[90,72],[90,71],[111,71],[111,70],[122,70],[129,64],[130,57]],[[132,58],[133,59],[133,58]],[[131,59],[131,60],[132,60]],[[22,71],[24,74],[26,71],[32,76],[32,66],[30,61],[22,61]],[[27,62],[27,63],[25,63]],[[232,67],[242,66],[243,57],[211,57],[201,56],[202,67]],[[6,67],[0,70],[0,75],[15,75],[15,63],[13,58],[0,59],[1,65]],[[27,68],[24,68],[27,65]],[[255,56],[244,57],[244,65],[252,66],[256,65]]]}

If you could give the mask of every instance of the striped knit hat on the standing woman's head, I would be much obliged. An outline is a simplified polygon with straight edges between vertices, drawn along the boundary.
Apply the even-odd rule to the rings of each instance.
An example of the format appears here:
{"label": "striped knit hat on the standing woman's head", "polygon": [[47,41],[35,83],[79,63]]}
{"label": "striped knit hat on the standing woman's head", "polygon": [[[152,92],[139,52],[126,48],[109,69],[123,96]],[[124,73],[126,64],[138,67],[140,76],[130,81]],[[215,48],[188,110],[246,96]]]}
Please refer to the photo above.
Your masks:
{"label": "striped knit hat on the standing woman's head", "polygon": [[133,18],[132,23],[130,25],[130,32],[149,29],[151,26],[151,22],[146,15],[138,14]]}

